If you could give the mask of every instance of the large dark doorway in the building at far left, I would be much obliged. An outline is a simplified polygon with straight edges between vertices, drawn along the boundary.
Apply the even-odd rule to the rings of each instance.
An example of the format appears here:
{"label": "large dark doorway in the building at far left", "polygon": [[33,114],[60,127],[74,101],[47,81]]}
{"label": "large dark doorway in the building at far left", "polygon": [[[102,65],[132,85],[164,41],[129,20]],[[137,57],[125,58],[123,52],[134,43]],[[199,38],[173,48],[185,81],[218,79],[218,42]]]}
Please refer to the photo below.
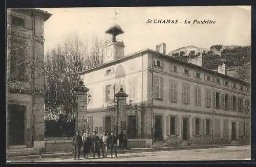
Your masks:
{"label": "large dark doorway in the building at far left", "polygon": [[25,108],[20,105],[8,106],[8,144],[25,144]]}

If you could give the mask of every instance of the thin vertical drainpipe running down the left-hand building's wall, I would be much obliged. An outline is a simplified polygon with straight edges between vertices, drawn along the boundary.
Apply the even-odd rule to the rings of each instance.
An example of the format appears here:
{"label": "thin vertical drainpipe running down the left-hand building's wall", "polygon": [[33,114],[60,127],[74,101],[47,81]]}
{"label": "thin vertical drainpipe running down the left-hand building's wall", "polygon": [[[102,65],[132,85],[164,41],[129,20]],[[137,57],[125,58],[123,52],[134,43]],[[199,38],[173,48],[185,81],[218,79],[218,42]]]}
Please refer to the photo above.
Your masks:
{"label": "thin vertical drainpipe running down the left-hand building's wall", "polygon": [[34,110],[35,110],[35,16],[34,11],[32,11],[32,109],[31,109],[31,135],[30,141],[32,142],[32,147],[34,146],[34,126],[35,126],[35,119],[34,119]]}

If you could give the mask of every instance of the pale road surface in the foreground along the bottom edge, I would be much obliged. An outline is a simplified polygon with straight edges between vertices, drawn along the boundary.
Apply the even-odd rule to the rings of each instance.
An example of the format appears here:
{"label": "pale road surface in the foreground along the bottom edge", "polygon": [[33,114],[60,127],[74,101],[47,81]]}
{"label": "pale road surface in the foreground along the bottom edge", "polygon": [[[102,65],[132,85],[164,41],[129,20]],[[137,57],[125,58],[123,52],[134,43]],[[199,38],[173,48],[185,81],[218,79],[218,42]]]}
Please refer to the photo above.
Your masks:
{"label": "pale road surface in the foreground along the bottom edge", "polygon": [[17,160],[12,162],[95,162],[95,161],[180,161],[180,160],[250,160],[250,146],[229,146],[211,149],[157,151],[119,154],[118,159],[81,159],[71,157]]}

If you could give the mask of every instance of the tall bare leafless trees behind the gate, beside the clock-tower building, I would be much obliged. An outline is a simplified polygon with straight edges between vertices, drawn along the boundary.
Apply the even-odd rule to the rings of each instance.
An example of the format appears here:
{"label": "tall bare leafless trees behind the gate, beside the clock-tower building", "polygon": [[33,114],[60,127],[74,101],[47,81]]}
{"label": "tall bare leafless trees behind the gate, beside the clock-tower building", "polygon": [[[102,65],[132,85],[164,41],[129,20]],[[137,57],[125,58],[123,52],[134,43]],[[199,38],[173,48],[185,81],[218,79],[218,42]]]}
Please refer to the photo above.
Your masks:
{"label": "tall bare leafless trees behind the gate, beside the clock-tower building", "polygon": [[62,45],[46,54],[45,104],[49,113],[57,114],[59,106],[62,106],[66,115],[72,115],[75,107],[74,88],[80,80],[76,73],[103,63],[102,46],[95,38],[89,52],[87,41],[77,34],[71,34]]}

